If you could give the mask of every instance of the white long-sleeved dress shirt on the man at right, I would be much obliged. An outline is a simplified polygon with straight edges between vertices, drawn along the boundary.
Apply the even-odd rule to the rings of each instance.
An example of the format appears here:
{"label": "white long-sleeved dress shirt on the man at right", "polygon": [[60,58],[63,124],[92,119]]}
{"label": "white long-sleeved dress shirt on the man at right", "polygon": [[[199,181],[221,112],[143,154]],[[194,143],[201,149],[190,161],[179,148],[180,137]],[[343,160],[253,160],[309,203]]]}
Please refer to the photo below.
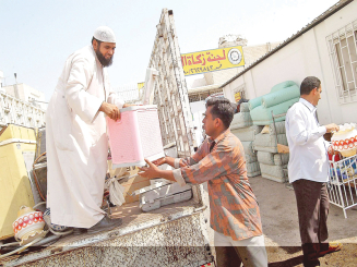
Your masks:
{"label": "white long-sleeved dress shirt on the man at right", "polygon": [[316,117],[317,108],[300,98],[286,113],[286,137],[290,157],[288,163],[289,182],[306,179],[328,182],[330,145],[323,138],[325,126],[320,126]]}

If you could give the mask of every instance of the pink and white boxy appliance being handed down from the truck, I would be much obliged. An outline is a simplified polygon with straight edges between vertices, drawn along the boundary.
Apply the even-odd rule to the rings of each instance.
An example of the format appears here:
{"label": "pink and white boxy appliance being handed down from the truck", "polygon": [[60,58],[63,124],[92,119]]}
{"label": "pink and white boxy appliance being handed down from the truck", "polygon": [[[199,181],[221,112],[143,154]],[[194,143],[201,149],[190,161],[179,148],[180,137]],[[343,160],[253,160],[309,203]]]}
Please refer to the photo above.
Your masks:
{"label": "pink and white boxy appliance being handed down from the truck", "polygon": [[145,158],[165,157],[156,105],[128,107],[120,113],[118,121],[107,117],[112,168],[145,166]]}

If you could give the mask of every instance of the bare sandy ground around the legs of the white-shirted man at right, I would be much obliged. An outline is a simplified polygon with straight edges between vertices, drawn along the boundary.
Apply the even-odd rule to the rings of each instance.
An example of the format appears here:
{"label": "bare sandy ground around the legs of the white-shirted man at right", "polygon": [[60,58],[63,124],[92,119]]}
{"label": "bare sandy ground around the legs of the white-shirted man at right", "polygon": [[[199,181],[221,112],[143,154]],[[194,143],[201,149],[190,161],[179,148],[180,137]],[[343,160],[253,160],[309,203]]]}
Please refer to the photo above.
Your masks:
{"label": "bare sandy ground around the legs of the white-shirted man at right", "polygon": [[[302,266],[294,190],[262,177],[250,178],[250,183],[261,209],[269,266]],[[347,209],[347,216],[330,204],[329,240],[344,246],[320,258],[321,266],[357,266],[357,207]]]}

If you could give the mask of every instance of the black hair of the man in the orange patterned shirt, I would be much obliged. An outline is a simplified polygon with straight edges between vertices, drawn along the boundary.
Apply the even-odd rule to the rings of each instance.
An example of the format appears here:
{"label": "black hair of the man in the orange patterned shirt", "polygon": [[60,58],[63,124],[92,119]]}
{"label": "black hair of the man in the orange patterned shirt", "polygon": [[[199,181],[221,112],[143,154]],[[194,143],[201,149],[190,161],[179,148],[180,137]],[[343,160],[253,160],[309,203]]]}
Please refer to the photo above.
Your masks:
{"label": "black hair of the man in the orange patterned shirt", "polygon": [[212,107],[211,114],[214,119],[219,118],[226,129],[229,128],[233,120],[235,108],[231,106],[230,101],[227,98],[223,97],[213,97],[210,98],[205,107]]}

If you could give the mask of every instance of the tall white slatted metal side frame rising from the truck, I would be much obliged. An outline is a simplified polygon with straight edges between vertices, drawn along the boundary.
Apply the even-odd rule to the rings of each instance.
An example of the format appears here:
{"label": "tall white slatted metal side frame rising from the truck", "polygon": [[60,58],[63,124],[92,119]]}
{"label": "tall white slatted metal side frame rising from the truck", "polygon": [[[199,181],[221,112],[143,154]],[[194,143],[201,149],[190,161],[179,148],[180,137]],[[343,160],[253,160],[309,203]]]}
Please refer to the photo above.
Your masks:
{"label": "tall white slatted metal side frame rising from the truck", "polygon": [[148,68],[158,71],[154,85],[163,145],[175,142],[179,157],[193,153],[193,123],[189,96],[181,63],[174,15],[163,10]]}

